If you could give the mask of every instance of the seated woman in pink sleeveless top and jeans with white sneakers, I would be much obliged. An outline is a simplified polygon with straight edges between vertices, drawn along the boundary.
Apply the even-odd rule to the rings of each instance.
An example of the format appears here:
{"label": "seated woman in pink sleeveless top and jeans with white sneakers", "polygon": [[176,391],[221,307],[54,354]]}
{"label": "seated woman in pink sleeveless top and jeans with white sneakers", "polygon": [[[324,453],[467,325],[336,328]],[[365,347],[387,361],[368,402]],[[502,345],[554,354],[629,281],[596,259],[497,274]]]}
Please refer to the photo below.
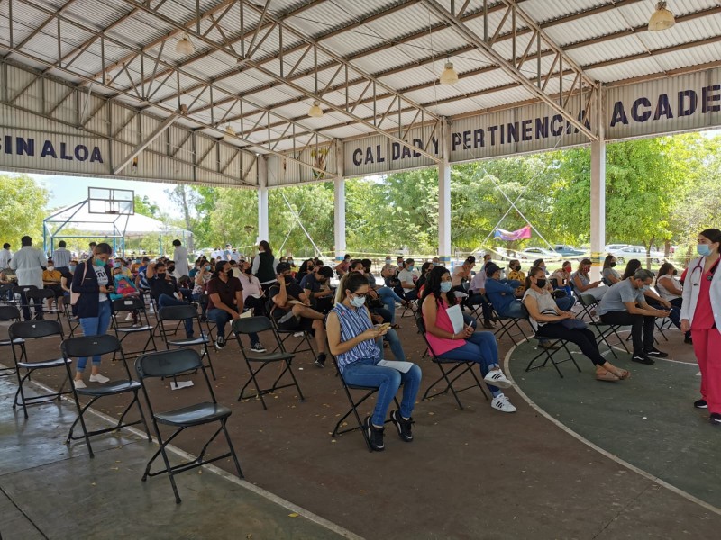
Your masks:
{"label": "seated woman in pink sleeveless top and jeans with white sneakers", "polygon": [[451,273],[443,266],[435,266],[425,282],[421,302],[425,337],[434,355],[451,360],[477,362],[480,374],[493,395],[491,407],[501,412],[516,412],[516,407],[499,390],[509,388],[511,382],[498,365],[496,336],[492,332],[476,332],[470,325],[466,325],[460,332],[453,331],[451,318],[447,313],[448,308],[456,302],[451,288]]}

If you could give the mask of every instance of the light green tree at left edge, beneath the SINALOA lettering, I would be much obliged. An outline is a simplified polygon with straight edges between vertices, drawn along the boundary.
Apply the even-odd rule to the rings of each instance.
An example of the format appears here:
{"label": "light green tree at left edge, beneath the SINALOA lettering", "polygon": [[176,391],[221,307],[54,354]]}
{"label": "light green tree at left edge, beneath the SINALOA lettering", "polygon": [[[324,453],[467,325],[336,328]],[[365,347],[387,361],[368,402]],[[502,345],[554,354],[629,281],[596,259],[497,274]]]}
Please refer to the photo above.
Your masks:
{"label": "light green tree at left edge, beneath the SINALOA lettering", "polygon": [[13,249],[20,238],[31,236],[38,244],[42,238],[42,220],[50,193],[28,175],[0,175],[0,239]]}

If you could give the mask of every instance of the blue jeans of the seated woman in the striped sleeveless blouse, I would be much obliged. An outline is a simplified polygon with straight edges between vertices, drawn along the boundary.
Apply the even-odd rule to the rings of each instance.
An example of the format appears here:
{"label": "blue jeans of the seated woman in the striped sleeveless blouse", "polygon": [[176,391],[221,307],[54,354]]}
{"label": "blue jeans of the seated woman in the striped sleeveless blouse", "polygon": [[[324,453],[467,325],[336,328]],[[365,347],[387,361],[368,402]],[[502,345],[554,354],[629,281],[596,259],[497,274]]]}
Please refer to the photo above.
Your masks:
{"label": "blue jeans of the seated woman in the striped sleeveless blouse", "polygon": [[415,405],[415,396],[421,385],[421,368],[413,365],[406,374],[400,373],[392,367],[375,365],[380,359],[360,358],[352,364],[346,365],[343,370],[343,379],[348,384],[362,386],[375,386],[378,388],[376,408],[370,421],[375,426],[383,426],[386,422],[388,407],[396,396],[400,384],[403,383],[403,399],[400,402],[400,415],[411,418]]}

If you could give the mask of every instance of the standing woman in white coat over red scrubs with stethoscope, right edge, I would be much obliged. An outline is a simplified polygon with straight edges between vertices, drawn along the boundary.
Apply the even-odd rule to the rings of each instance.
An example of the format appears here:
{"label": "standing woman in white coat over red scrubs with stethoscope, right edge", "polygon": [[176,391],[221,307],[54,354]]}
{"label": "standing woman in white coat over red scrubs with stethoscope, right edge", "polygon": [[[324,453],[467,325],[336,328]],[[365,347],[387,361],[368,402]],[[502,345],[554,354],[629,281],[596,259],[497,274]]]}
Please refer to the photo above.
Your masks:
{"label": "standing woman in white coat over red scrubs with stethoscope, right edge", "polygon": [[701,370],[698,409],[708,409],[708,420],[721,425],[721,272],[718,272],[721,230],[698,235],[697,259],[689,264],[683,286],[681,331],[691,330],[693,349]]}

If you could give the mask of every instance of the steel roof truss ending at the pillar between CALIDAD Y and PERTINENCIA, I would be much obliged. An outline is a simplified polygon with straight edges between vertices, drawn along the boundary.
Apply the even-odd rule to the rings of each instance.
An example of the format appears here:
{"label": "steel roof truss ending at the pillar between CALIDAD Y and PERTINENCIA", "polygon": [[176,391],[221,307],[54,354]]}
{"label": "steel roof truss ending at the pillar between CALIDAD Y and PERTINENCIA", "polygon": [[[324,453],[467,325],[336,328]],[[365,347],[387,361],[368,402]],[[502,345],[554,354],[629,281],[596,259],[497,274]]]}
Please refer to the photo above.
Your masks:
{"label": "steel roof truss ending at the pillar between CALIDAD Y and PERTINENCIA", "polygon": [[[23,1],[27,2],[27,1],[29,1],[29,0],[23,0]],[[123,0],[123,2],[126,3],[126,4],[131,4],[131,5],[134,5],[134,6],[138,7],[138,8],[141,9],[142,11],[144,11],[144,12],[146,12],[146,13],[148,13],[148,14],[151,14],[151,15],[153,15],[154,17],[158,18],[158,19],[159,19],[160,21],[162,21],[163,23],[169,24],[170,26],[173,26],[173,27],[176,27],[176,28],[184,29],[184,27],[183,27],[180,23],[174,21],[173,19],[171,19],[170,17],[168,17],[168,16],[166,16],[166,15],[164,15],[164,14],[160,14],[160,13],[156,12],[155,10],[151,9],[151,7],[149,7],[149,6],[145,5],[145,4],[140,4],[140,3],[137,2],[136,0]],[[244,0],[242,0],[242,2],[244,3]],[[253,10],[259,11],[259,13],[262,11],[262,8],[259,7],[259,6],[255,6],[255,5],[252,5],[252,4],[249,4],[249,3],[244,3],[244,4],[245,4],[245,5],[248,5],[248,6],[249,6],[251,9],[253,9]],[[305,40],[307,43],[311,44],[315,49],[320,49],[320,46],[317,45],[317,43],[315,43],[313,40],[310,40],[309,38],[307,38],[306,36],[304,36],[301,32],[296,31],[295,29],[292,29],[292,28],[288,27],[285,23],[278,22],[278,20],[277,20],[275,17],[273,17],[272,15],[266,14],[266,18],[269,19],[270,21],[274,22],[274,23],[278,23],[278,27],[284,27],[287,31],[291,31],[291,32],[297,34],[297,37],[298,37],[298,38],[300,38],[300,39],[302,39],[302,40]],[[232,57],[232,58],[235,58],[236,60],[241,61],[241,63],[244,63],[244,64],[247,65],[247,66],[253,67],[254,69],[260,71],[260,73],[262,73],[263,75],[268,76],[269,78],[272,78],[272,79],[278,81],[278,83],[282,83],[282,84],[287,85],[289,88],[291,88],[292,90],[294,90],[294,91],[297,92],[298,94],[306,95],[306,97],[308,97],[309,99],[316,100],[316,101],[318,101],[318,102],[320,102],[320,103],[323,103],[323,104],[326,106],[326,108],[333,109],[333,111],[336,111],[336,112],[340,112],[341,114],[349,117],[351,120],[356,121],[356,122],[364,125],[365,127],[369,128],[371,131],[375,131],[375,132],[379,133],[379,135],[383,135],[383,136],[386,137],[387,139],[390,139],[390,140],[392,140],[392,141],[394,141],[394,142],[397,142],[398,144],[400,144],[400,145],[402,145],[402,146],[404,146],[404,147],[406,147],[406,148],[412,148],[416,153],[419,153],[419,154],[421,154],[421,155],[423,155],[423,156],[425,156],[425,157],[428,157],[428,158],[430,158],[430,159],[433,159],[434,162],[437,162],[437,161],[440,160],[439,157],[436,157],[436,156],[434,156],[433,154],[431,154],[431,153],[429,153],[429,152],[426,152],[426,151],[423,150],[423,149],[416,148],[416,147],[413,145],[412,142],[408,142],[408,141],[406,141],[405,139],[401,139],[401,138],[399,138],[399,137],[396,137],[395,135],[390,134],[390,133],[388,133],[388,132],[385,131],[385,130],[380,130],[379,127],[378,127],[377,125],[375,125],[374,123],[372,123],[372,122],[370,122],[370,121],[366,121],[365,119],[361,118],[360,116],[358,116],[358,115],[356,115],[356,114],[353,114],[352,112],[349,112],[349,111],[347,110],[347,108],[343,108],[342,106],[338,106],[338,105],[336,105],[335,103],[332,103],[332,102],[324,99],[324,97],[323,97],[322,95],[318,95],[318,94],[315,93],[315,92],[311,92],[311,91],[309,91],[309,90],[306,90],[306,88],[303,88],[303,87],[301,87],[301,86],[298,86],[298,85],[295,85],[295,84],[293,84],[293,83],[287,82],[287,80],[286,80],[284,77],[279,76],[279,75],[273,73],[272,71],[270,71],[269,69],[260,66],[258,63],[256,63],[255,61],[253,61],[253,60],[251,60],[251,59],[248,59],[248,58],[246,58],[246,57],[242,57],[241,55],[237,54],[234,49],[231,49],[231,48],[225,46],[224,44],[219,44],[219,43],[215,42],[214,40],[210,40],[210,39],[208,39],[206,36],[204,36],[203,34],[197,32],[197,31],[187,31],[187,34],[188,34],[189,36],[192,36],[192,37],[195,38],[196,40],[199,40],[199,41],[205,43],[206,45],[208,45],[208,46],[210,46],[210,47],[218,50],[219,52],[223,52],[224,54],[226,54],[226,55],[228,55],[228,56],[230,56],[230,57]],[[337,55],[335,55],[335,53],[333,53],[333,52],[330,51],[330,50],[323,49],[323,52],[324,52],[324,54],[327,54],[328,56],[330,56],[330,57],[332,57],[332,58],[336,58],[338,61],[341,61],[341,62],[343,62],[343,63],[346,63],[346,62],[344,62],[344,60],[342,60],[342,58],[338,57]],[[347,64],[347,63],[346,63],[346,64]],[[352,66],[350,66],[350,65],[349,65],[349,68],[352,69],[353,71],[355,71],[356,73],[359,73],[361,76],[365,76],[365,74],[363,74],[363,72],[360,71],[360,69],[358,69],[358,68],[356,68],[356,67],[352,67]],[[407,100],[407,99],[404,98],[401,94],[398,94],[395,90],[393,90],[392,88],[388,87],[387,85],[382,84],[382,83],[379,83],[378,81],[374,80],[374,79],[373,79],[372,77],[370,77],[370,76],[368,76],[368,78],[369,78],[369,80],[373,83],[374,86],[380,86],[380,87],[382,87],[382,88],[385,88],[388,92],[390,92],[390,93],[392,93],[392,94],[396,94],[397,97],[398,97],[400,100],[402,100],[403,103],[406,104],[406,106],[413,106],[413,107],[415,107],[416,109],[421,109],[421,110],[423,110],[422,107],[419,107],[416,103],[413,103],[412,101]],[[227,93],[227,91],[224,91],[224,92]],[[429,111],[425,111],[425,110],[423,110],[423,112],[424,112],[424,117],[427,116],[428,118],[432,118],[432,119],[434,119],[434,120],[436,120],[436,121],[440,121],[440,119],[438,118],[438,116],[435,115],[434,113],[429,112]],[[377,115],[376,115],[376,117],[377,117]],[[399,126],[399,129],[401,129],[401,126]],[[325,136],[323,136],[323,137],[325,138]]]}

